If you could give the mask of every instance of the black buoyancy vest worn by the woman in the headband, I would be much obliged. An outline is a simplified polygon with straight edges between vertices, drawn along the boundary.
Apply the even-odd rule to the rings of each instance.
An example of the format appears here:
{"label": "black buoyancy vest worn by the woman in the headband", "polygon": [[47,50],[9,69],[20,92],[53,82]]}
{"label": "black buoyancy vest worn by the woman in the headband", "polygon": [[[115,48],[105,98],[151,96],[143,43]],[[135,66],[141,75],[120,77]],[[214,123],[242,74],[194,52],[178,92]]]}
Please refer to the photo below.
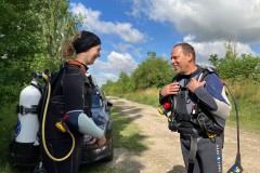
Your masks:
{"label": "black buoyancy vest worn by the woman in the headband", "polygon": [[[55,124],[57,121],[61,121],[64,119],[64,116],[66,115],[66,106],[65,106],[65,97],[64,97],[64,90],[63,88],[68,86],[68,84],[75,84],[73,82],[70,83],[64,83],[64,77],[68,74],[80,74],[78,76],[78,80],[82,81],[82,88],[83,88],[83,112],[92,117],[91,114],[91,94],[94,92],[94,85],[91,82],[91,80],[86,75],[87,67],[82,65],[79,62],[76,61],[68,61],[65,62],[61,67],[60,70],[54,72],[51,78],[51,98],[49,102],[49,108],[48,108],[48,116],[47,116],[47,124],[46,124],[46,134],[47,139],[62,142],[62,141],[70,141],[70,136],[67,133],[61,133]],[[72,75],[70,74],[70,75]],[[66,85],[67,84],[67,85]],[[74,94],[73,91],[66,94]],[[74,101],[75,103],[78,101]],[[69,124],[68,124],[69,128]],[[78,131],[73,130],[73,128],[69,128],[73,134],[75,135],[75,138],[81,137],[82,134]]]}

